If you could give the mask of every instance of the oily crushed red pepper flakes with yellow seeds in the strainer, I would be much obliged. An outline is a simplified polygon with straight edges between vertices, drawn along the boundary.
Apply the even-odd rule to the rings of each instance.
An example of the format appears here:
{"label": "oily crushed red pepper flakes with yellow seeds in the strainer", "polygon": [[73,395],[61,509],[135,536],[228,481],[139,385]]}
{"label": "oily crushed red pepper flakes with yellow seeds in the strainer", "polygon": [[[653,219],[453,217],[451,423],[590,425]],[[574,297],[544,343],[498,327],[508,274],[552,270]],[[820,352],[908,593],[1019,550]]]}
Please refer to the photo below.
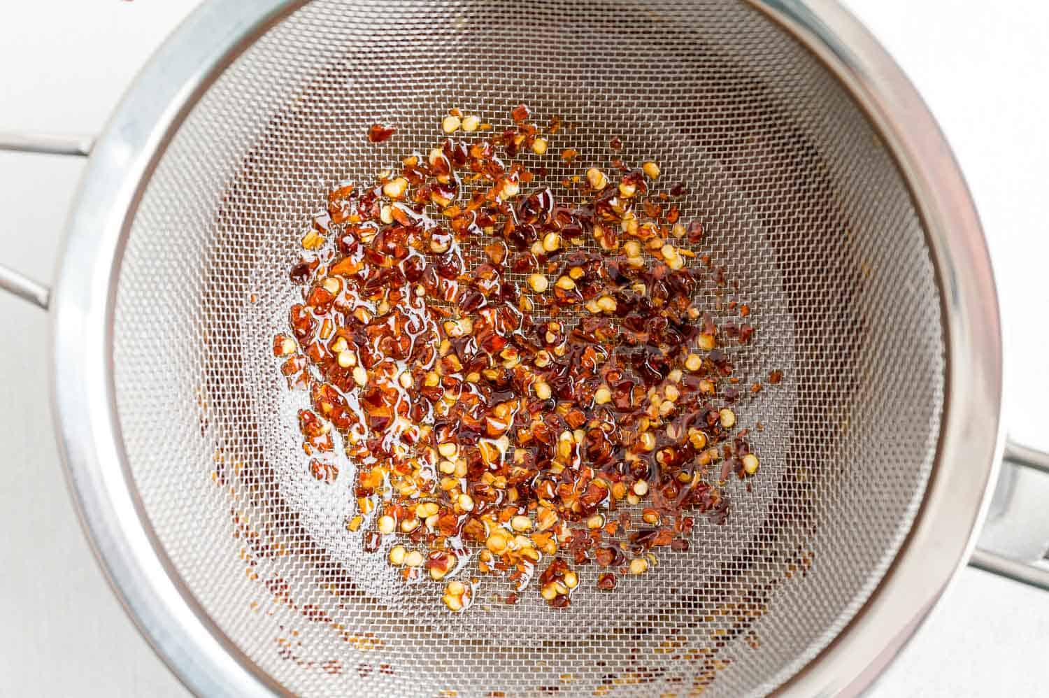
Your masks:
{"label": "oily crushed red pepper flakes with yellow seeds in the strainer", "polygon": [[[723,350],[752,341],[750,309],[730,301],[740,324],[715,323],[698,304],[704,278],[726,281],[692,250],[702,223],[679,219],[685,187],[656,193],[656,163],[616,158],[613,175],[553,183],[582,203],[558,200],[542,163],[570,129],[540,130],[524,105],[511,115],[499,131],[452,109],[437,147],[331,191],[274,340],[311,396],[311,472],[335,482],[344,450],[347,528],[368,552],[394,538],[390,565],[445,584],[452,611],[477,586],[471,559],[509,581],[510,604],[538,571],[540,596],[568,607],[586,565],[612,591],[656,549],[687,550],[697,514],[724,523],[724,484],[759,465]],[[578,156],[560,152],[565,167]]]}

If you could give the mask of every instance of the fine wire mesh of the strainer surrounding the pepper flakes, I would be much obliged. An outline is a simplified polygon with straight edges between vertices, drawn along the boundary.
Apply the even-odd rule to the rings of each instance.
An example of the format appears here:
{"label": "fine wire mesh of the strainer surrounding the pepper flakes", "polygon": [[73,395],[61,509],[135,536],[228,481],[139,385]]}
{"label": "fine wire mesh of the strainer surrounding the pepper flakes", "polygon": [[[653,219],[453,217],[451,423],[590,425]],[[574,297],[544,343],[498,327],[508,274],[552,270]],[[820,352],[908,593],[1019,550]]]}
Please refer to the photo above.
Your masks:
{"label": "fine wire mesh of the strainer surrounding the pepper flakes", "polygon": [[[308,404],[272,353],[287,271],[326,192],[442,139],[450,107],[496,128],[526,103],[577,125],[551,179],[654,160],[687,186],[755,341],[784,372],[738,405],[758,475],[614,594],[569,609],[481,581],[451,614],[347,530],[352,463],[315,480]],[[369,144],[376,122],[397,126]],[[478,136],[479,138],[479,136]],[[531,155],[530,155],[531,156]],[[557,191],[570,198],[568,191]],[[713,308],[711,289],[701,293]],[[114,317],[128,463],[173,568],[216,626],[302,695],[758,695],[812,659],[892,562],[933,467],[939,288],[908,189],[822,65],[746,3],[317,0],[202,94],[131,225]]]}

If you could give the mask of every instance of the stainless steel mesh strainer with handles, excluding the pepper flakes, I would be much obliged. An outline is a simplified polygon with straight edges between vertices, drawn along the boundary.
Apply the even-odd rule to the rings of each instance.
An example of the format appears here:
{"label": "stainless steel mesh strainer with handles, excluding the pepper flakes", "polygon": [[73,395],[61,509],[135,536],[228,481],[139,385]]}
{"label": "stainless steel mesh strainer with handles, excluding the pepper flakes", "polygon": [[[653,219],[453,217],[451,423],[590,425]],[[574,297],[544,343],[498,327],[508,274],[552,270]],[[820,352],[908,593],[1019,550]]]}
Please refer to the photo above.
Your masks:
{"label": "stainless steel mesh strainer with handles, excluding the pepper flakes", "polygon": [[[766,425],[762,470],[687,552],[569,610],[483,586],[452,615],[362,553],[351,472],[307,474],[270,346],[335,183],[428,147],[450,106],[501,123],[519,102],[579,125],[571,173],[618,136],[689,184],[683,218],[754,308],[734,359],[786,379],[741,406]],[[397,138],[367,145],[377,121]],[[213,0],[91,148],[53,297],[0,284],[50,308],[85,527],[202,695],[854,693],[968,556],[999,462],[972,204],[913,87],[831,2]],[[977,559],[1046,584],[999,548]]]}

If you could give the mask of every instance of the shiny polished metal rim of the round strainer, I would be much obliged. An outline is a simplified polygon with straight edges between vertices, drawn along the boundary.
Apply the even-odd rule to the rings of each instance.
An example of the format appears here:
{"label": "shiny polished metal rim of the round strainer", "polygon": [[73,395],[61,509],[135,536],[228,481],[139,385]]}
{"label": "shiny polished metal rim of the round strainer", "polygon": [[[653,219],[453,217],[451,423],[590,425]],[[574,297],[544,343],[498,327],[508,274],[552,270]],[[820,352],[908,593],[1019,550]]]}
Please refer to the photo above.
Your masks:
{"label": "shiny polished metal rim of the round strainer", "polygon": [[[747,1],[816,55],[882,135],[925,224],[944,304],[945,411],[921,510],[865,606],[779,689],[788,695],[851,694],[902,647],[971,551],[1002,449],[998,303],[968,190],[900,68],[833,0]],[[304,2],[212,0],[153,56],[91,153],[66,226],[50,305],[51,402],[82,523],[140,630],[200,695],[271,695],[282,689],[208,618],[150,529],[115,409],[115,289],[137,204],[168,141],[216,76]]]}

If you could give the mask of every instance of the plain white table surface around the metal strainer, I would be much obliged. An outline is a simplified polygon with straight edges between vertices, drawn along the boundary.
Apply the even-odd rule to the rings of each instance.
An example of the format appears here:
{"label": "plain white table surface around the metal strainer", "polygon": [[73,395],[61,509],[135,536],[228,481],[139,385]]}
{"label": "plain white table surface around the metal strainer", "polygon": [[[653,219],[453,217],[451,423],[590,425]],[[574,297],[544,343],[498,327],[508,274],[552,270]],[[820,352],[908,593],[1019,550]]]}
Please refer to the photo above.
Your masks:
{"label": "plain white table surface around the metal strainer", "polygon": [[[0,130],[98,132],[195,0],[7,0]],[[1006,336],[1006,419],[1049,448],[1049,5],[850,0],[929,103],[983,217]],[[0,153],[0,262],[49,280],[83,162]],[[110,593],[52,440],[45,314],[0,294],[0,695],[186,696]],[[1049,593],[963,570],[869,696],[1049,692]]]}

